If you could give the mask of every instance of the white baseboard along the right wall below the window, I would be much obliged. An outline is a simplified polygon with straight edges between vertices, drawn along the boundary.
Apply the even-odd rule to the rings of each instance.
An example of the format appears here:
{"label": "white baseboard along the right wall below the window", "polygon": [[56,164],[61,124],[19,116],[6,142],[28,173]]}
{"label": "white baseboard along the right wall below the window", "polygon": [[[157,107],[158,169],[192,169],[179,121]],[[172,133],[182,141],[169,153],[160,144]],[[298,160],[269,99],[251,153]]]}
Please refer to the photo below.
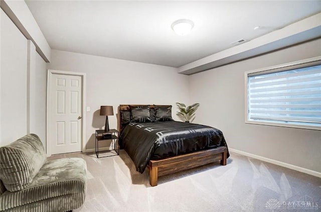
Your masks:
{"label": "white baseboard along the right wall below the window", "polygon": [[283,167],[286,167],[286,168],[289,168],[289,169],[293,169],[293,170],[296,170],[296,171],[299,171],[299,172],[303,172],[303,173],[310,174],[310,175],[313,175],[313,176],[321,178],[321,172],[313,171],[313,170],[302,168],[302,167],[299,167],[299,166],[294,166],[294,165],[291,165],[291,164],[288,164],[288,163],[284,163],[284,162],[273,160],[273,159],[270,159],[270,158],[254,155],[254,154],[251,154],[251,153],[243,152],[243,151],[232,149],[232,148],[229,148],[229,151],[230,152],[235,152],[235,153],[238,153],[238,154],[241,154],[241,155],[245,155],[245,156],[248,156],[248,157],[252,157],[252,158],[255,158],[255,159],[259,159],[259,160],[262,160],[262,161],[265,161],[265,162],[268,162],[268,163],[273,163],[275,165],[283,166]]}

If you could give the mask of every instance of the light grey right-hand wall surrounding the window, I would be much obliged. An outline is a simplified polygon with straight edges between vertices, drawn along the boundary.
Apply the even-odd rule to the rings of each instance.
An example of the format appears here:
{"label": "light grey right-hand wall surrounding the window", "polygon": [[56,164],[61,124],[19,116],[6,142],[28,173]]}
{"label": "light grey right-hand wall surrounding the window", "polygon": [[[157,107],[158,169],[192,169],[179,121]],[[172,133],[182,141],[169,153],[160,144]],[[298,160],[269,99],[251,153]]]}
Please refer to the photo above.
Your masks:
{"label": "light grey right-hand wall surrounding the window", "polygon": [[321,39],[191,75],[195,119],[224,133],[230,148],[321,172],[321,131],[245,124],[244,72],[321,55]]}

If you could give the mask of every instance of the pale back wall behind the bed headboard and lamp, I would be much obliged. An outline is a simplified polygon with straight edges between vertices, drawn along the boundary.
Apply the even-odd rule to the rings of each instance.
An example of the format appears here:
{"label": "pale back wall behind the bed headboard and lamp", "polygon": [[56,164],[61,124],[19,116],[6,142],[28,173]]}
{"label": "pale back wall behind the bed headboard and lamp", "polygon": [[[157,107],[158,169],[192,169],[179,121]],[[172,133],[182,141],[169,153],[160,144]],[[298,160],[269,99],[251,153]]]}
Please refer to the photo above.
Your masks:
{"label": "pale back wall behind the bed headboard and lamp", "polygon": [[105,117],[99,116],[100,105],[113,105],[114,116],[109,116],[109,127],[117,128],[119,104],[189,103],[188,76],[178,74],[176,68],[98,57],[93,55],[52,50],[48,69],[86,73],[87,107],[86,149],[93,149],[94,133],[103,129]]}

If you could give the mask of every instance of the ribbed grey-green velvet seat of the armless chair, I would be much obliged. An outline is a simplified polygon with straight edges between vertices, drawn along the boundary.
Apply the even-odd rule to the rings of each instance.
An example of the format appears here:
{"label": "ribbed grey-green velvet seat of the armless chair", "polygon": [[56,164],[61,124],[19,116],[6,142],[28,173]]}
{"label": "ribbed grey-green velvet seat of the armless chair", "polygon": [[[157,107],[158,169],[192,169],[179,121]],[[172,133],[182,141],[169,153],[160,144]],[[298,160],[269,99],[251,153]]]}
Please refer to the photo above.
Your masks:
{"label": "ribbed grey-green velvet seat of the armless chair", "polygon": [[[37,201],[44,202],[46,199],[52,201],[55,197],[69,196],[70,194],[82,194],[76,195],[79,196],[79,199],[72,198],[73,201],[79,202],[77,205],[81,205],[84,201],[86,186],[87,165],[84,159],[48,160],[33,181],[23,190],[5,191],[0,195],[0,211]],[[64,202],[68,204],[69,201],[70,199],[66,198]],[[59,205],[58,203],[55,205]],[[45,204],[46,202],[44,202]]]}

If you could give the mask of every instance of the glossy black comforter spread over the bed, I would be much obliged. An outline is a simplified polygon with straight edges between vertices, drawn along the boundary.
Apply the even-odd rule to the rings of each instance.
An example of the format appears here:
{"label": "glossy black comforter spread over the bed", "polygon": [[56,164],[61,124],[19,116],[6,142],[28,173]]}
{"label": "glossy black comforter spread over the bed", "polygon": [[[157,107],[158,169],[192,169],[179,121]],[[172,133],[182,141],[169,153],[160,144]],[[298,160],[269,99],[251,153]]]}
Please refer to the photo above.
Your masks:
{"label": "glossy black comforter spread over the bed", "polygon": [[[215,128],[185,122],[129,123],[119,144],[143,173],[150,159],[227,147],[223,133]],[[229,157],[229,153],[227,153]]]}

